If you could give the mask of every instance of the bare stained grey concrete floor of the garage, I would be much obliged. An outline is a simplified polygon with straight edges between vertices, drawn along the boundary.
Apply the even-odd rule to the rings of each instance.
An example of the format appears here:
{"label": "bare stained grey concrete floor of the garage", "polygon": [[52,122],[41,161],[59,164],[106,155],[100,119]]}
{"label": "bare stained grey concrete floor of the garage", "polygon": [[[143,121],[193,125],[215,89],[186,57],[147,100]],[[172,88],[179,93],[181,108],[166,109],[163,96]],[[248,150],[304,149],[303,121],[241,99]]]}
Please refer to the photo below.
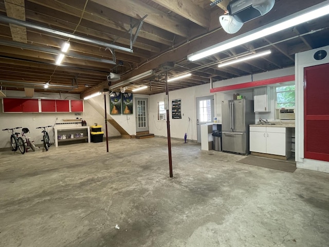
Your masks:
{"label": "bare stained grey concrete floor of the garage", "polygon": [[329,245],[329,174],[172,146],[173,179],[165,138],[0,152],[0,246]]}

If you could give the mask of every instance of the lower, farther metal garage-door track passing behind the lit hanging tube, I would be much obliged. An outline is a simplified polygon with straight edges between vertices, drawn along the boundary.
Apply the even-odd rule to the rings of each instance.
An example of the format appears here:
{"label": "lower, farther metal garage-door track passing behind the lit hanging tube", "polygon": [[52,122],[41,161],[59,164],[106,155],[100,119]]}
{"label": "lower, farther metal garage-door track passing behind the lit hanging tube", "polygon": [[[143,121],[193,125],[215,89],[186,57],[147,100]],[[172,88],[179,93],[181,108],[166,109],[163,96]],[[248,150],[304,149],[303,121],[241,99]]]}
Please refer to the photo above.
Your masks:
{"label": "lower, farther metal garage-door track passing behind the lit hanging tube", "polygon": [[[15,42],[15,41],[0,40],[0,45],[23,48],[23,49],[27,49],[27,50],[42,51],[42,52],[47,52],[49,54],[54,54],[54,55],[58,55],[58,54],[62,53],[60,50],[46,48],[46,47],[34,46],[34,45],[29,45],[29,44],[25,44],[25,43],[21,43],[21,42]],[[95,61],[95,62],[108,63],[108,64],[116,64],[112,60],[84,56],[84,55],[80,55],[80,54],[78,54],[76,52],[72,52],[72,51],[68,51],[67,53],[65,53],[65,56],[66,57],[71,57],[71,58],[78,58],[78,59],[88,60],[88,61]]]}

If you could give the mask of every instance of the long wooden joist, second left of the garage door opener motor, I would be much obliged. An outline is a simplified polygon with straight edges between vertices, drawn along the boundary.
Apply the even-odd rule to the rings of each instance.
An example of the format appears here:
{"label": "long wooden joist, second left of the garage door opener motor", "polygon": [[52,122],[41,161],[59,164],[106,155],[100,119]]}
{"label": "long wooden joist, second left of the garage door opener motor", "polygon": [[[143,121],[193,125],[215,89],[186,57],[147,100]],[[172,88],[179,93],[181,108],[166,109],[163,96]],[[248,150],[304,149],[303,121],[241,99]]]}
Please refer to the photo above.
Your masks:
{"label": "long wooden joist, second left of the garage door opener motor", "polygon": [[114,9],[120,13],[132,16],[137,20],[148,14],[144,19],[149,23],[161,29],[173,32],[179,36],[189,38],[189,28],[176,18],[168,16],[166,13],[136,0],[124,0],[124,4],[118,4],[117,0],[90,0],[109,9]]}

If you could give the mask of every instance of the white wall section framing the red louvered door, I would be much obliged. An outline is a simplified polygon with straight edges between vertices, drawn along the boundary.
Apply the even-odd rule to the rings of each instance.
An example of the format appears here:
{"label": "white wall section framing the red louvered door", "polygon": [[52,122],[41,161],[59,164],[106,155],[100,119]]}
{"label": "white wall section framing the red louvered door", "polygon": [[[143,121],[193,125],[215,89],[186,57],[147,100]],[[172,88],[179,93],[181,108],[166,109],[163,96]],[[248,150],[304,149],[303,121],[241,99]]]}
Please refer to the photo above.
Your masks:
{"label": "white wall section framing the red louvered door", "polygon": [[[326,50],[328,55],[323,60],[315,60],[313,55],[318,50]],[[296,54],[295,58],[296,102],[298,105],[298,108],[296,108],[297,167],[321,172],[329,172],[329,162],[315,161],[304,158],[304,68],[329,63],[329,46],[301,52]]]}

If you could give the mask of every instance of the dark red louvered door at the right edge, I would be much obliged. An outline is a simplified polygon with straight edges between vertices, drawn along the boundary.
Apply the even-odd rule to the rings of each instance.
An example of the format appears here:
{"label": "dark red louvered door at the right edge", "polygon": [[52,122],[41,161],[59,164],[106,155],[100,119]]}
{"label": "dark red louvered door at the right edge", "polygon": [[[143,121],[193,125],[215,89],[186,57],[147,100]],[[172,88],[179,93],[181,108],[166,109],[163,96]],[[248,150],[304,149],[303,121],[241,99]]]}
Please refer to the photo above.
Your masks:
{"label": "dark red louvered door at the right edge", "polygon": [[304,68],[304,157],[329,162],[329,63]]}

